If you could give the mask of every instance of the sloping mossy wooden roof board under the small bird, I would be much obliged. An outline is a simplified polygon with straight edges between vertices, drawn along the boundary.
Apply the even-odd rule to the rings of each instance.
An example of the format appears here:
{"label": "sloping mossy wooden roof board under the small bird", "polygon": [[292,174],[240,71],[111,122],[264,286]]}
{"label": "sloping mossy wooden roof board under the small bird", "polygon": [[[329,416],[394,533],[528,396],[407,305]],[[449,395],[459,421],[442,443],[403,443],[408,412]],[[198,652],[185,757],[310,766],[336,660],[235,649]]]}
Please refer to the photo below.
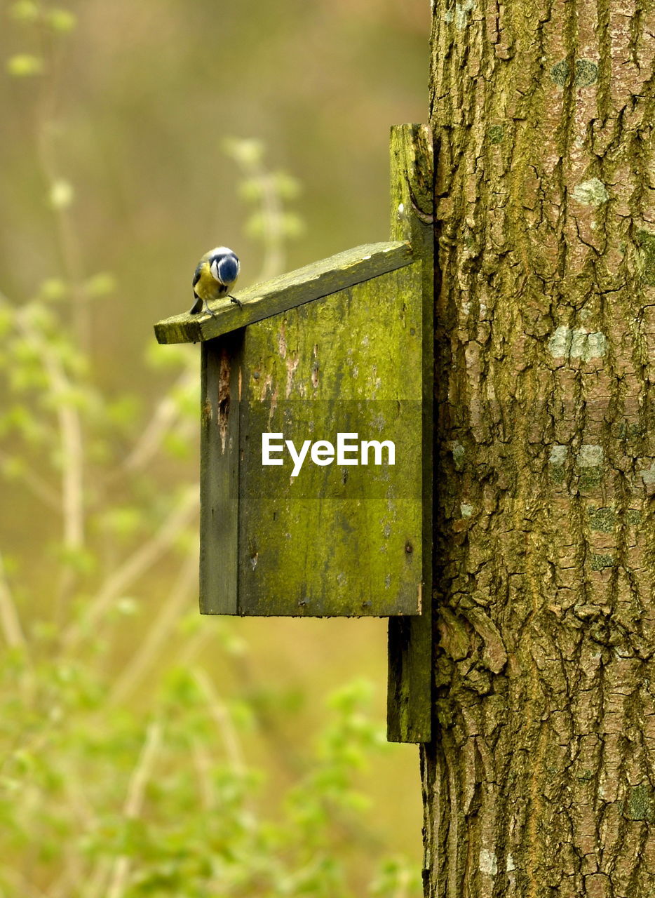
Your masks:
{"label": "sloping mossy wooden roof board under the small bird", "polygon": [[235,293],[241,307],[224,299],[213,305],[214,315],[174,315],[158,321],[154,333],[160,343],[214,339],[253,321],[262,321],[336,290],[403,268],[412,260],[412,249],[406,240],[365,243]]}

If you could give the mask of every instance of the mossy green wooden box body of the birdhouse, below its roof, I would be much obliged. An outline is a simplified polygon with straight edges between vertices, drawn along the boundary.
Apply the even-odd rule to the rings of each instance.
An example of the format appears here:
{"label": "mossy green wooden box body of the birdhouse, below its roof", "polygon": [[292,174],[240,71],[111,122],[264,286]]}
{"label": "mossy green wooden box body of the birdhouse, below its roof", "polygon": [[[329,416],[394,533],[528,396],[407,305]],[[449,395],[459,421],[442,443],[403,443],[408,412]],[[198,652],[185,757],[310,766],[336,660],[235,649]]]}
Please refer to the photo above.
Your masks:
{"label": "mossy green wooden box body of the birdhouse, below its roof", "polygon": [[421,612],[421,277],[203,343],[203,612]]}

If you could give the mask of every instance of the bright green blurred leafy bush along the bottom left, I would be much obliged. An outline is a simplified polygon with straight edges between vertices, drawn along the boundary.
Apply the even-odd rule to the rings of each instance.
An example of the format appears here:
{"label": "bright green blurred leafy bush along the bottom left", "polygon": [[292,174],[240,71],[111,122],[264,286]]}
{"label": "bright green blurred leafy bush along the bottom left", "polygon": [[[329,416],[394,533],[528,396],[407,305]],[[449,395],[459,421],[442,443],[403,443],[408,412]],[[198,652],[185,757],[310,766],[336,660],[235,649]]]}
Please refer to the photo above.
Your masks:
{"label": "bright green blurred leafy bush along the bottom left", "polygon": [[[43,649],[39,639],[31,649]],[[89,664],[49,658],[31,669],[12,656],[3,674],[0,822],[10,851],[0,883],[8,894],[28,856],[30,885],[69,895],[93,885],[127,898],[353,894],[339,830],[356,833],[359,801],[351,762],[334,745],[347,741],[363,758],[379,739],[362,696],[336,703],[307,759],[311,772],[266,814],[261,773],[243,761],[231,709],[199,670],[171,668],[147,718],[112,708],[108,683]],[[376,894],[394,894],[382,890],[385,876]]]}

